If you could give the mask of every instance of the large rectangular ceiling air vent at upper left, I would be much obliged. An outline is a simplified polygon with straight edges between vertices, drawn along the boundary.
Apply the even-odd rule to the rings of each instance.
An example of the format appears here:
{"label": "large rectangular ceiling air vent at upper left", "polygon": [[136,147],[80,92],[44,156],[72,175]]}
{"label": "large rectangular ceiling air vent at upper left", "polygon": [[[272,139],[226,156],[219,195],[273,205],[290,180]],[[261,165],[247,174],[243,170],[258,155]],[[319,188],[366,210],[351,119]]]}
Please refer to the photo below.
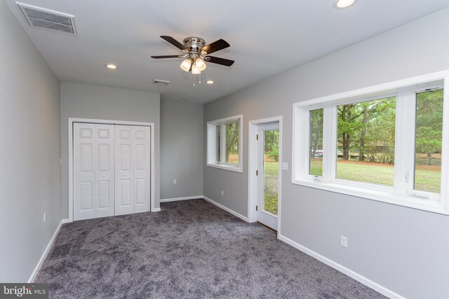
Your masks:
{"label": "large rectangular ceiling air vent at upper left", "polygon": [[29,26],[76,35],[73,15],[58,13],[57,11],[50,11],[20,2],[15,3],[19,6],[23,15],[25,15]]}

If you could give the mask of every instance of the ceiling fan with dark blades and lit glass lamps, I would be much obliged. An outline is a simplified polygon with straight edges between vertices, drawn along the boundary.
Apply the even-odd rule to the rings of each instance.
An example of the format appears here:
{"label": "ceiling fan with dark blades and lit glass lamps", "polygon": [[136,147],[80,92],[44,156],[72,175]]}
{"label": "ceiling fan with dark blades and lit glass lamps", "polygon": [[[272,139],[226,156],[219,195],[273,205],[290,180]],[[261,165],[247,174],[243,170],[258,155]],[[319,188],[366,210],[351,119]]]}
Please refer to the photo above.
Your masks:
{"label": "ceiling fan with dark blades and lit glass lamps", "polygon": [[[161,58],[185,58],[182,61],[180,67],[183,71],[192,71],[192,74],[201,74],[201,71],[206,69],[205,62],[212,62],[215,64],[225,65],[226,67],[231,67],[234,64],[234,60],[227,60],[225,58],[209,56],[209,54],[217,52],[219,50],[229,47],[229,43],[223,39],[214,41],[206,45],[206,41],[196,36],[186,37],[183,43],[173,39],[171,36],[162,35],[162,39],[168,41],[176,48],[185,52],[185,55],[161,55],[152,56],[154,59]],[[204,56],[207,55],[207,56]]]}

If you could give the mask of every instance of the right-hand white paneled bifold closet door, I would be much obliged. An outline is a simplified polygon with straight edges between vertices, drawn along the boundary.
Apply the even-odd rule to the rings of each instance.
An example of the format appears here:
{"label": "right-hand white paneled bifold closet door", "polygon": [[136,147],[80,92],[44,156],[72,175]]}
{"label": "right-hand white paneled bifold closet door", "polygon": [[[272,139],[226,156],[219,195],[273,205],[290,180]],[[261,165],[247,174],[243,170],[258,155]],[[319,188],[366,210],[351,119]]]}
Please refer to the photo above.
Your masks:
{"label": "right-hand white paneled bifold closet door", "polygon": [[149,211],[149,127],[115,126],[115,214]]}

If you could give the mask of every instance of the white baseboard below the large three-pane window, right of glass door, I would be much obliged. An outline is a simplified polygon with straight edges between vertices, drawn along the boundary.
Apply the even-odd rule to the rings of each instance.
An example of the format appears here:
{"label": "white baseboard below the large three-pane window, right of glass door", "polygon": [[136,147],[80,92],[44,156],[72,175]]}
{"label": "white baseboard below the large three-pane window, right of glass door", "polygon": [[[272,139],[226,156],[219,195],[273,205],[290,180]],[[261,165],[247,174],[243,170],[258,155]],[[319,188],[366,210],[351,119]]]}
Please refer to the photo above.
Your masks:
{"label": "white baseboard below the large three-pane window, right of glass door", "polygon": [[295,247],[296,249],[308,254],[309,256],[316,258],[317,260],[321,261],[322,263],[325,263],[326,265],[333,267],[335,270],[342,272],[343,274],[347,274],[347,276],[355,279],[356,281],[360,282],[361,284],[364,284],[368,286],[369,288],[373,288],[373,290],[381,293],[382,295],[387,296],[388,298],[394,298],[394,299],[405,299],[403,296],[394,293],[394,291],[389,290],[388,288],[385,288],[384,286],[381,286],[380,284],[375,283],[374,281],[364,277],[361,274],[358,274],[347,267],[344,267],[343,265],[340,265],[339,263],[335,263],[333,260],[330,260],[329,258],[326,258],[325,256],[321,256],[321,254],[316,253],[315,251],[308,249],[307,247],[302,246],[301,244],[298,244],[297,242],[288,239],[288,237],[284,237],[283,235],[279,234],[279,239],[283,242],[286,242],[290,246]]}

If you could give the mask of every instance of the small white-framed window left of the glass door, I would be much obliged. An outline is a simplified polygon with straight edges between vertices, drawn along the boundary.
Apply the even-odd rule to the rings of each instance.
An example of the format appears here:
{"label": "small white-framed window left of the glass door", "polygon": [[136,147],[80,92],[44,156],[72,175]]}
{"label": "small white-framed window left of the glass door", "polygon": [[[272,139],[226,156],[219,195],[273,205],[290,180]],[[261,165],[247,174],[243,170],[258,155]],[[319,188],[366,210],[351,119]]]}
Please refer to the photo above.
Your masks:
{"label": "small white-framed window left of the glass door", "polygon": [[208,166],[241,172],[241,122],[232,116],[208,122]]}

